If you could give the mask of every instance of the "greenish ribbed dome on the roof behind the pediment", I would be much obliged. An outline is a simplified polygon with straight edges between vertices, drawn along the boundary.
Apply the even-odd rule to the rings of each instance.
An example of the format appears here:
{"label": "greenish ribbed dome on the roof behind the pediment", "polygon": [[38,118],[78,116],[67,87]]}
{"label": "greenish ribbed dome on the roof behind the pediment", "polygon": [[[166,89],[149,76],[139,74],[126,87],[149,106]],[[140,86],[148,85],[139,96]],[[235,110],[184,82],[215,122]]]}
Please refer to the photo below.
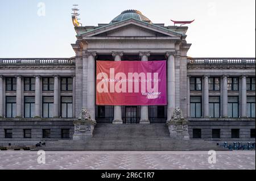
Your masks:
{"label": "greenish ribbed dome on the roof behind the pediment", "polygon": [[118,15],[116,18],[114,18],[112,20],[112,22],[110,22],[110,23],[121,22],[122,20],[130,19],[130,18],[138,19],[138,20],[141,20],[143,22],[150,23],[150,24],[152,23],[150,19],[148,19],[146,16],[144,16],[141,13],[141,11],[137,11],[137,10],[123,11],[120,15]]}

